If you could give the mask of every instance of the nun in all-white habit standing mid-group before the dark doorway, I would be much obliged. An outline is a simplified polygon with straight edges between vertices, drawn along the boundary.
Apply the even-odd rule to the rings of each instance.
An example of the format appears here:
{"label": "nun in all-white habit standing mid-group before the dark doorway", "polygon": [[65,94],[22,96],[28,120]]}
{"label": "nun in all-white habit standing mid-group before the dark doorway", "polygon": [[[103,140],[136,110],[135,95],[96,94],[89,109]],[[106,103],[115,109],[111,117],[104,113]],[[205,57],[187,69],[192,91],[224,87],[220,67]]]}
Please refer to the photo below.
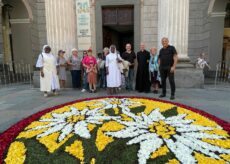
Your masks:
{"label": "nun in all-white habit standing mid-group before the dark doorway", "polygon": [[120,54],[117,53],[115,45],[110,46],[110,53],[106,56],[107,87],[109,94],[114,94],[121,86],[121,72],[118,63],[122,62]]}

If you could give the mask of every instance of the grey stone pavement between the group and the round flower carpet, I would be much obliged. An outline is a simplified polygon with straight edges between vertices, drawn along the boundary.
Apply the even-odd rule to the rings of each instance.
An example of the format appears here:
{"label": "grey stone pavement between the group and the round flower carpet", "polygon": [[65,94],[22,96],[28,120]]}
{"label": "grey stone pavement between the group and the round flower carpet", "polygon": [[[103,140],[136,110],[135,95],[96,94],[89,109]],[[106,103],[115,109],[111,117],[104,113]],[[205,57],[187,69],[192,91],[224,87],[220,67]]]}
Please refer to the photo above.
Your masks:
{"label": "grey stone pavement between the group and the round flower carpet", "polygon": [[[44,98],[37,88],[29,85],[0,88],[0,133],[38,111],[76,99],[107,96],[105,90],[97,93],[81,93],[80,90],[65,89],[59,96]],[[122,91],[118,96],[145,96],[158,98],[152,93]],[[169,100],[169,95],[165,100]],[[204,89],[177,89],[176,100],[230,122],[230,86],[206,85]]]}

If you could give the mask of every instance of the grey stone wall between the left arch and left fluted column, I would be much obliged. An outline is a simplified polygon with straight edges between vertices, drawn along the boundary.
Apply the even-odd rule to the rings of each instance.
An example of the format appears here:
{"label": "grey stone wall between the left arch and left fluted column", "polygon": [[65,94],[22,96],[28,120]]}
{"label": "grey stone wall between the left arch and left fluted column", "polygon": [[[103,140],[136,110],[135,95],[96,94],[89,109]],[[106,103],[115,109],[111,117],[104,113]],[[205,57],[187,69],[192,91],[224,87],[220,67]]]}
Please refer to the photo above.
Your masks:
{"label": "grey stone wall between the left arch and left fluted column", "polygon": [[33,50],[34,63],[44,44],[47,44],[46,18],[45,18],[45,0],[29,1],[33,20],[31,23],[31,44]]}

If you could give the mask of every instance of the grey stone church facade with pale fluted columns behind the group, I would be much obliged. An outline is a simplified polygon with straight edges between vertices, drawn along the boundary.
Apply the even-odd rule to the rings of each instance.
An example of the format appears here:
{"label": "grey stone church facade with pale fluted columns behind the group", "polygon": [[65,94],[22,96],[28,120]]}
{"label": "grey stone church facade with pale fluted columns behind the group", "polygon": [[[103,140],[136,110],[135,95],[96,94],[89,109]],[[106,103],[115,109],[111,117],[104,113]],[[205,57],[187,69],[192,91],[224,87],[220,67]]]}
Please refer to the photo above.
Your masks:
{"label": "grey stone church facade with pale fluted columns behind the group", "polygon": [[42,46],[94,54],[115,44],[124,51],[161,47],[168,37],[180,61],[207,54],[212,70],[228,53],[228,0],[1,0],[0,62],[35,65]]}

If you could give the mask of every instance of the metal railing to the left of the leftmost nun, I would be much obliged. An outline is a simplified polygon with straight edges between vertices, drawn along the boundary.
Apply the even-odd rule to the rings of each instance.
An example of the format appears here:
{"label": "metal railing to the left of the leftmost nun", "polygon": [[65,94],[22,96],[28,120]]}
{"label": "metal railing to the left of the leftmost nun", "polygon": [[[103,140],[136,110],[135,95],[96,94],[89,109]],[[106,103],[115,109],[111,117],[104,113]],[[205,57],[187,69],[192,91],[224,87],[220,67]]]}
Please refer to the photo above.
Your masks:
{"label": "metal railing to the left of the leftmost nun", "polygon": [[32,85],[32,67],[26,63],[0,63],[0,86]]}

